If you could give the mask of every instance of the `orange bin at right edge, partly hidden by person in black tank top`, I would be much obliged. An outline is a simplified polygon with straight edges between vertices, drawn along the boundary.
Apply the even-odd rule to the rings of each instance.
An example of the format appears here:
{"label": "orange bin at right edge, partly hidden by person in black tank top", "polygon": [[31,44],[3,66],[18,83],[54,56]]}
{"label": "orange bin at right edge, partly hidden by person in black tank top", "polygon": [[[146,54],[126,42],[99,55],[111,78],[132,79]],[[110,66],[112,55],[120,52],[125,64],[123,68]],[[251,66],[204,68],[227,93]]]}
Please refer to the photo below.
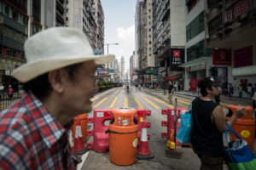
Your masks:
{"label": "orange bin at right edge, partly hidden by person in black tank top", "polygon": [[[238,108],[241,108],[243,106],[228,105],[227,107],[234,114]],[[252,116],[253,107],[246,106],[246,110],[247,110],[247,115],[238,118],[234,123],[234,125],[232,126],[232,128],[241,137],[241,139],[244,139],[247,141],[249,148],[253,151],[254,135],[255,135],[255,122]],[[233,133],[230,133],[230,135],[232,139],[234,140],[236,139]]]}

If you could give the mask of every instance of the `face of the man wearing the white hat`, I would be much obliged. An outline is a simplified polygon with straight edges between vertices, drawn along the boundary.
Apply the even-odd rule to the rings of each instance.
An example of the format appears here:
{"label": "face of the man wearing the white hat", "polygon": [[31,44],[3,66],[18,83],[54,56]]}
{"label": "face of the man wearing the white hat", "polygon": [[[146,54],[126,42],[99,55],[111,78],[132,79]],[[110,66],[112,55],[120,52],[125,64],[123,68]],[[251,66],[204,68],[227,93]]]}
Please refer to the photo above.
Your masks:
{"label": "face of the man wearing the white hat", "polygon": [[96,63],[94,60],[85,61],[74,72],[73,80],[67,78],[65,86],[65,107],[71,109],[73,114],[79,115],[92,110],[90,98],[98,90],[95,83]]}

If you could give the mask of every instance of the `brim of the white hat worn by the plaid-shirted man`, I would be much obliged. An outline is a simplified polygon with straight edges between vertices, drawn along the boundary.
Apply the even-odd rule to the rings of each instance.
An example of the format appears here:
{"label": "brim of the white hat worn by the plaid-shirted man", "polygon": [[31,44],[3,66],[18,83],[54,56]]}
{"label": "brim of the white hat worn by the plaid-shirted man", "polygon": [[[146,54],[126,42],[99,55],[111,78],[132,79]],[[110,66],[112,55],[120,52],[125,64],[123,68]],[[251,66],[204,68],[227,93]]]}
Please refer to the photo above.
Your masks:
{"label": "brim of the white hat worn by the plaid-shirted man", "polygon": [[88,54],[79,54],[77,56],[71,56],[70,58],[66,57],[63,59],[38,59],[36,61],[20,65],[11,73],[11,76],[15,77],[20,82],[28,82],[46,72],[60,69],[68,65],[74,65],[88,60],[95,60],[96,65],[102,65],[113,62],[114,58],[113,54],[89,56]]}

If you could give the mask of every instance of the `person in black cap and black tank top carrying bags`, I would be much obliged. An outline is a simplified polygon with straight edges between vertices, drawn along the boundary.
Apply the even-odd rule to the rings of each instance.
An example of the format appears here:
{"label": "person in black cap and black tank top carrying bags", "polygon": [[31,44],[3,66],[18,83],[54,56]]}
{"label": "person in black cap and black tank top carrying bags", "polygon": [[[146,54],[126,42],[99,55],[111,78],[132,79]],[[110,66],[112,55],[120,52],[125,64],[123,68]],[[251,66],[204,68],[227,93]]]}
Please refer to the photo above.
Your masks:
{"label": "person in black cap and black tank top carrying bags", "polygon": [[222,81],[212,77],[201,79],[198,84],[201,97],[192,102],[193,127],[191,132],[192,148],[201,160],[200,169],[223,169],[223,133],[226,123],[232,126],[236,119],[245,116],[245,107],[240,108],[225,122],[221,105],[213,102],[218,95]]}

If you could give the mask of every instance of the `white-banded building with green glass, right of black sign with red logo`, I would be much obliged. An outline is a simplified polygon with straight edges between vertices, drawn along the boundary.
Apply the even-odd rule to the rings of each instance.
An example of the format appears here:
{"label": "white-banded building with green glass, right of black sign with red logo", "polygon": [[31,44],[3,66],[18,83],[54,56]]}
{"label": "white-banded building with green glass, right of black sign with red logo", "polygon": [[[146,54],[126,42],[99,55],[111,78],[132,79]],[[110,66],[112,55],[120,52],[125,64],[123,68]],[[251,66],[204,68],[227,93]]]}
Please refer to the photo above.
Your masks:
{"label": "white-banded building with green glass, right of black sign with red logo", "polygon": [[197,90],[197,82],[212,75],[212,48],[205,45],[205,1],[187,0],[184,89]]}

